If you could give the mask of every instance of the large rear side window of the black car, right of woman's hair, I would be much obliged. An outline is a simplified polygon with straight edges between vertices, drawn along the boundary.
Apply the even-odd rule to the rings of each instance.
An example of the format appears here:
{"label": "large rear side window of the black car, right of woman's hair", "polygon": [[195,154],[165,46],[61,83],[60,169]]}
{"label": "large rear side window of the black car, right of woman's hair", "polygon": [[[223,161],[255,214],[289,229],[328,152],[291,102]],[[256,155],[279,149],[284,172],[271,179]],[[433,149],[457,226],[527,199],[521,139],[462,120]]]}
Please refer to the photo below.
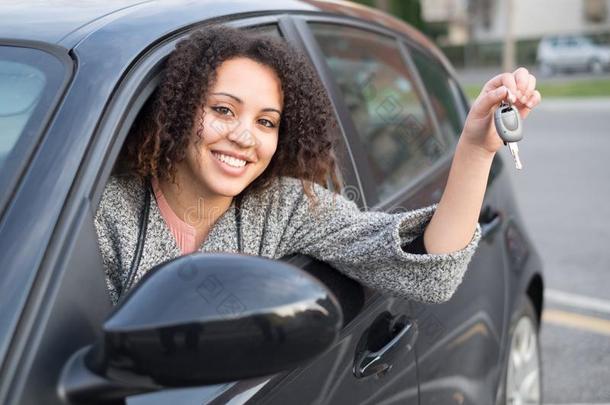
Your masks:
{"label": "large rear side window of the black car, right of woman's hair", "polygon": [[341,25],[310,26],[384,199],[439,159],[443,142],[434,133],[395,39]]}

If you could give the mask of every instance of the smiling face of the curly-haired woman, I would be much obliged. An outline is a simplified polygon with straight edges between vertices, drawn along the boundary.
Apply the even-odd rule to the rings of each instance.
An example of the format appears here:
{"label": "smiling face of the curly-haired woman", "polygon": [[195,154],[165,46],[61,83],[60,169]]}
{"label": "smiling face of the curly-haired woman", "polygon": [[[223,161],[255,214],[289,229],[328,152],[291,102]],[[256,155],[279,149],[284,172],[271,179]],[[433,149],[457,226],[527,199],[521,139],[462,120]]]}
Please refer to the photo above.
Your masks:
{"label": "smiling face of the curly-haired woman", "polygon": [[224,61],[195,117],[186,158],[176,167],[182,185],[196,187],[204,198],[239,194],[271,162],[282,106],[273,69],[245,57]]}

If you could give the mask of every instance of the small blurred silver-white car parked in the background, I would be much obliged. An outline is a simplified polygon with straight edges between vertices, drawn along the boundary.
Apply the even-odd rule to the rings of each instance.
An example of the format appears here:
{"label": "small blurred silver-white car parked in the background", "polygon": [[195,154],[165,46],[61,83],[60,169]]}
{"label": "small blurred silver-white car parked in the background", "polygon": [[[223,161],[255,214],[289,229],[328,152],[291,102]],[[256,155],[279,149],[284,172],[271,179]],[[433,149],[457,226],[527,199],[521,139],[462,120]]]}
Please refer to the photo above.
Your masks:
{"label": "small blurred silver-white car parked in the background", "polygon": [[545,75],[574,70],[599,74],[610,67],[610,47],[581,35],[548,36],[538,44],[536,58]]}

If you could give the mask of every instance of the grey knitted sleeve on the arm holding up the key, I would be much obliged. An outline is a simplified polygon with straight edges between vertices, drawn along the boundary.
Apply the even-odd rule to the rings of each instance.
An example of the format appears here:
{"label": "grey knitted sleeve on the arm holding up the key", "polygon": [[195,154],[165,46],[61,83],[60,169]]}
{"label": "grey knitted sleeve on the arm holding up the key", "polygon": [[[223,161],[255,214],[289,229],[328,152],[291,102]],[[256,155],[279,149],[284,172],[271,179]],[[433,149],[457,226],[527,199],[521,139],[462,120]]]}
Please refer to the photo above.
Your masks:
{"label": "grey knitted sleeve on the arm holding up the key", "polygon": [[373,289],[429,303],[449,300],[460,283],[481,238],[477,224],[464,248],[428,254],[423,232],[438,204],[387,213],[360,211],[341,194],[318,184],[313,206],[301,181],[286,178],[282,190],[292,205],[288,250],[324,261]]}

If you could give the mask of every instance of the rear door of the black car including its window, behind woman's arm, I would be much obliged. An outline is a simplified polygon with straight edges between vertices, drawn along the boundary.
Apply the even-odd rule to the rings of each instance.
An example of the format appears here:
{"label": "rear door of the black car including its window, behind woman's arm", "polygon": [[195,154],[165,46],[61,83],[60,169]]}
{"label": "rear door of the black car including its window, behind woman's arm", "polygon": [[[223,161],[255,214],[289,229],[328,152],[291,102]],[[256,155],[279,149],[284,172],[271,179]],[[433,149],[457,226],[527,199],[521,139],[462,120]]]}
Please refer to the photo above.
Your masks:
{"label": "rear door of the black car including its window, behind woman's arm", "polygon": [[[388,211],[438,202],[466,115],[455,81],[425,49],[390,33],[332,21],[309,27],[354,123],[350,146],[366,151],[357,168],[374,185],[367,202]],[[507,288],[495,236],[503,220],[494,205],[501,168],[496,159],[480,218],[483,239],[463,284],[446,303],[412,301],[405,312],[420,331],[421,404],[490,403],[496,392]]]}

